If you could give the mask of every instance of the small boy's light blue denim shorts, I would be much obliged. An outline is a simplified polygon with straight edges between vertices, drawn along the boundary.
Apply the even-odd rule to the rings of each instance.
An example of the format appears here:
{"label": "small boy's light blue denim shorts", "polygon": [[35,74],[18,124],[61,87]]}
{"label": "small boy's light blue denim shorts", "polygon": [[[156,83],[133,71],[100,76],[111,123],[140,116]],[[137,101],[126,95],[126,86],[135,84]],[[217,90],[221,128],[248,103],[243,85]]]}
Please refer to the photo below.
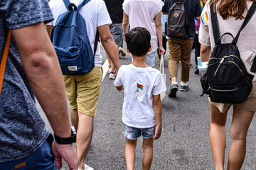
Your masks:
{"label": "small boy's light blue denim shorts", "polygon": [[137,137],[142,137],[144,139],[149,139],[150,137],[154,137],[156,130],[156,125],[151,128],[133,128],[124,124],[124,136],[127,137],[128,140],[136,140]]}

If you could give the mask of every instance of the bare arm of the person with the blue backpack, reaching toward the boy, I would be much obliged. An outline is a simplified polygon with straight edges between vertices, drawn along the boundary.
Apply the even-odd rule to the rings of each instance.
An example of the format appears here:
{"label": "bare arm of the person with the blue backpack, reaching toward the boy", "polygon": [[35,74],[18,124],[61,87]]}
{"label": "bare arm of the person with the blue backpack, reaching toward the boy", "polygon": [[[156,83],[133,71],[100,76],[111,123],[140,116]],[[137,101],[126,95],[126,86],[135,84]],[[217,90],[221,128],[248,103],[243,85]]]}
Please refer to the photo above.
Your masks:
{"label": "bare arm of the person with the blue backpack, reaching toward the boy", "polygon": [[118,71],[119,67],[121,67],[121,64],[119,61],[117,45],[114,43],[114,39],[110,33],[110,26],[99,26],[97,29],[100,33],[100,40],[102,42],[102,46],[107,52],[107,55],[110,56],[110,60],[114,63],[114,67],[116,67]]}

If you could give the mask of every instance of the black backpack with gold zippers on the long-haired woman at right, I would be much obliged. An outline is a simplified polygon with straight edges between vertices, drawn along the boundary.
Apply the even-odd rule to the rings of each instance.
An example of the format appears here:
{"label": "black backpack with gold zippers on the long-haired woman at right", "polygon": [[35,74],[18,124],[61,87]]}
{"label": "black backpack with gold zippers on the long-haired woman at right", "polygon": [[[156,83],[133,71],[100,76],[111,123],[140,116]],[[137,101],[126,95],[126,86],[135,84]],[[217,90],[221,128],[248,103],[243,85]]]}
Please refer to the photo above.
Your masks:
{"label": "black backpack with gold zippers on the long-haired woman at right", "polygon": [[[206,83],[202,84],[203,94],[209,94],[210,101],[217,103],[242,103],[247,99],[252,90],[252,79],[254,76],[247,73],[236,43],[238,42],[241,30],[250,21],[250,18],[255,13],[255,9],[256,3],[254,2],[238,31],[238,35],[234,38],[231,33],[224,33],[223,35],[232,36],[233,41],[231,43],[221,43],[220,39],[223,35],[220,37],[217,15],[213,13],[213,6],[210,6],[215,47],[210,55],[207,72],[203,75]],[[250,71],[256,72],[256,58]]]}

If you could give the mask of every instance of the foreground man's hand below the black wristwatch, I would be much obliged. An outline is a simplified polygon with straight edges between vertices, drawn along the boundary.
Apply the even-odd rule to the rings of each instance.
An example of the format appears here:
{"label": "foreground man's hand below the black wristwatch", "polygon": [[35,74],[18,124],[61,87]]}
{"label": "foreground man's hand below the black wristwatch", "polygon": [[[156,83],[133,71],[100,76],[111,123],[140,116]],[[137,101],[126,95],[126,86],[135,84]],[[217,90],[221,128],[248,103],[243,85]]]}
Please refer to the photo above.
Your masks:
{"label": "foreground man's hand below the black wristwatch", "polygon": [[60,145],[53,141],[52,151],[55,156],[56,168],[60,169],[63,165],[62,159],[68,163],[70,170],[78,170],[78,156],[75,152],[73,144]]}

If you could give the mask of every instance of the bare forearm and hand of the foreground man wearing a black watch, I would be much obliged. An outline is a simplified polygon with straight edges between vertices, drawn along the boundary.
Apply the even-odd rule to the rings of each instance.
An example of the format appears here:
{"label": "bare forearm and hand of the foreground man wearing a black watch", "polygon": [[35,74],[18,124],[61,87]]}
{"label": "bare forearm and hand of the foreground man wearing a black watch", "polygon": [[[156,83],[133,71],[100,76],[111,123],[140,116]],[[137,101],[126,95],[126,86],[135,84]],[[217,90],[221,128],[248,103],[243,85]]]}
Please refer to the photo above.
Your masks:
{"label": "bare forearm and hand of the foreground man wearing a black watch", "polygon": [[[64,81],[58,58],[44,24],[36,23],[11,30],[11,33],[16,41],[33,93],[46,113],[55,134],[59,137],[70,137]],[[61,157],[63,157],[70,169],[77,169],[78,160],[73,145],[58,145],[53,142],[53,154],[58,168],[62,165]]]}

